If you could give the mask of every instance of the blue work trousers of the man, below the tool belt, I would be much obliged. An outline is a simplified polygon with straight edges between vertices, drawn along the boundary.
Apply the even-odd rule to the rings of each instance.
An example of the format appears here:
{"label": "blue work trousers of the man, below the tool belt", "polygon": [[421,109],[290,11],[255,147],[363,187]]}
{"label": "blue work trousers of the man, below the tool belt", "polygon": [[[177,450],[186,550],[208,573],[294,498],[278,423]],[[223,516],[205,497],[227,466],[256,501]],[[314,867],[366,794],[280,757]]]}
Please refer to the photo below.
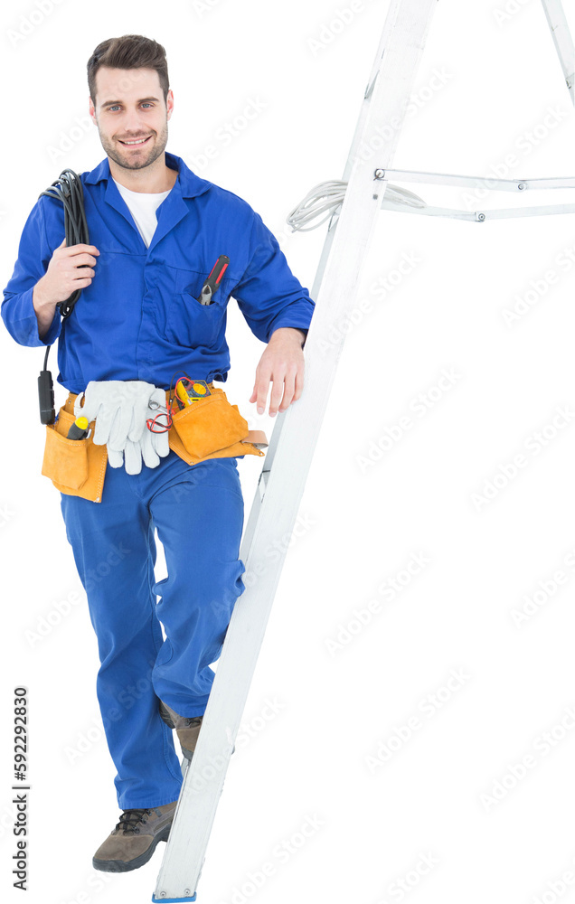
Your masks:
{"label": "blue work trousers of the man, below the tool belt", "polygon": [[[181,716],[203,715],[210,664],[245,589],[236,458],[190,466],[171,450],[137,475],[108,464],[102,501],[61,494],[61,512],[98,639],[96,692],[118,806],[169,804],[182,770],[158,698]],[[159,581],[155,531],[167,568]]]}

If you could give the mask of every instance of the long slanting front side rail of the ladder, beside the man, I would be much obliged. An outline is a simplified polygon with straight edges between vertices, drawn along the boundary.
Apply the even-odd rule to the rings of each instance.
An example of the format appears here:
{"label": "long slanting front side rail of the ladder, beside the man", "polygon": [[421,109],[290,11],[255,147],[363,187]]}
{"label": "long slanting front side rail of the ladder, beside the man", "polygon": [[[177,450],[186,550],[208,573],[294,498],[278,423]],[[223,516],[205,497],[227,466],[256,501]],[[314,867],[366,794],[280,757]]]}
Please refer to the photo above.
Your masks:
{"label": "long slanting front side rail of the ladder, beside the man", "polygon": [[[374,82],[370,110],[363,126],[365,140],[381,134],[391,117],[403,120],[436,3],[437,0],[401,0],[382,56],[382,67]],[[394,11],[396,8],[397,5],[392,7]],[[385,164],[391,162],[399,135],[400,128],[391,134],[384,147]],[[306,389],[297,405],[278,415],[285,421],[282,426],[285,436],[276,448],[274,467],[259,505],[247,557],[242,545],[241,558],[246,561],[247,570],[255,563],[257,567],[262,566],[263,572],[257,582],[246,588],[231,616],[203,730],[186,771],[166,844],[153,896],[155,901],[167,902],[184,896],[191,899],[192,892],[195,895],[233,741],[240,727],[285,558],[284,551],[278,560],[270,563],[266,551],[274,537],[281,538],[293,530],[344,336],[339,344],[329,344],[325,355],[313,353],[314,344],[316,337],[327,335],[334,317],[344,316],[353,306],[358,275],[378,220],[384,189],[384,184],[373,179],[372,162],[357,159],[338,218],[338,229],[331,240],[324,278],[316,293],[316,310],[304,349]]]}

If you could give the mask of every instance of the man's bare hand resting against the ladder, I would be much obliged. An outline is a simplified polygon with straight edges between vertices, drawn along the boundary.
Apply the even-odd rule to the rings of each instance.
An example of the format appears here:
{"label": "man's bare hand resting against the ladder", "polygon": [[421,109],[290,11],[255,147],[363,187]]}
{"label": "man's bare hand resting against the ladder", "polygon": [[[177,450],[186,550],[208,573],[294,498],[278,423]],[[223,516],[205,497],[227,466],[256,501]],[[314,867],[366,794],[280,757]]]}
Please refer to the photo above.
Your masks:
{"label": "man's bare hand resting against the ladder", "polygon": [[299,399],[304,388],[302,343],[305,339],[306,334],[292,326],[281,326],[271,334],[256,368],[256,381],[250,398],[250,402],[258,402],[258,414],[263,414],[266,409],[270,381],[273,381],[269,400],[270,418]]}

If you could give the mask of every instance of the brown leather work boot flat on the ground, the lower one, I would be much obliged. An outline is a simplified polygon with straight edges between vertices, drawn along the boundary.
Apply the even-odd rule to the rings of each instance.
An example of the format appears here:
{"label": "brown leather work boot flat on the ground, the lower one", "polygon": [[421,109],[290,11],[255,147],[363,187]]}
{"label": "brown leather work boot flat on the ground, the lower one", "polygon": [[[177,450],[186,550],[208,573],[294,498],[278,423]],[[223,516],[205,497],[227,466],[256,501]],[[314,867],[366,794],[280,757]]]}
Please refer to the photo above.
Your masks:
{"label": "brown leather work boot flat on the ground, the lower one", "polygon": [[100,844],[92,858],[95,870],[128,872],[147,863],[158,842],[166,842],[174,819],[175,805],[124,810],[116,828]]}

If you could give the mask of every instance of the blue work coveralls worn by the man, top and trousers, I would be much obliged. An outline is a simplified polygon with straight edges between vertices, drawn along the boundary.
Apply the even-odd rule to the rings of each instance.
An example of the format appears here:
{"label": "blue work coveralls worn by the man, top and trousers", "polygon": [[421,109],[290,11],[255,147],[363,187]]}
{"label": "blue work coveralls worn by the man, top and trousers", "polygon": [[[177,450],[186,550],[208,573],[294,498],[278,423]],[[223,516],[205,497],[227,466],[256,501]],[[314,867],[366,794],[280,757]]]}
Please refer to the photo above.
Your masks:
{"label": "blue work coveralls worn by the man, top and trousers", "polygon": [[[314,302],[259,214],[173,154],[174,187],[146,248],[110,177],[108,158],[81,174],[95,277],[70,317],[58,308],[40,339],[33,287],[64,237],[61,202],[42,196],[25,225],[2,318],[16,342],[58,343],[58,382],[143,380],[169,389],[174,374],[227,380],[226,306],[233,296],[251,331],[306,332]],[[221,254],[230,264],[210,306],[196,300]],[[100,503],[61,494],[61,512],[98,638],[97,695],[118,774],[120,809],[161,806],[182,773],[158,698],[182,716],[205,711],[214,663],[236,599],[243,498],[235,457],[189,466],[173,450],[138,475],[108,464]],[[167,578],[156,581],[156,541]],[[157,601],[159,597],[159,601]],[[165,627],[163,640],[160,622]]]}

